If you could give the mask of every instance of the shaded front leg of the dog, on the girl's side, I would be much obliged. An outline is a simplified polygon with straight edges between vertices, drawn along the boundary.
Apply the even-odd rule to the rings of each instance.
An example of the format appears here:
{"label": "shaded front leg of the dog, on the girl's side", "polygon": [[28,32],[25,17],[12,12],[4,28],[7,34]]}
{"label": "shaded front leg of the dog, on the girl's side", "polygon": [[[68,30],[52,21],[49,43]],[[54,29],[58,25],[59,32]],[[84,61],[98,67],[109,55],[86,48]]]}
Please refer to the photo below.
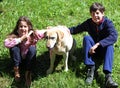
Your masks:
{"label": "shaded front leg of the dog, on the girl's side", "polygon": [[50,51],[50,67],[49,69],[47,70],[47,75],[48,74],[51,74],[53,72],[53,69],[54,69],[54,62],[55,62],[55,54],[52,53],[52,51]]}

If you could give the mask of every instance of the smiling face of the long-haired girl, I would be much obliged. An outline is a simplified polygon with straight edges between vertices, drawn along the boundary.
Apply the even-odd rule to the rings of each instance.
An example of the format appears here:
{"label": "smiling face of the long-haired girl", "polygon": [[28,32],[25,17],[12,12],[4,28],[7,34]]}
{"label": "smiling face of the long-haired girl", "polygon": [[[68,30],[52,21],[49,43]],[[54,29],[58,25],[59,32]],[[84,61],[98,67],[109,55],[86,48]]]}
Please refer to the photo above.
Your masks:
{"label": "smiling face of the long-haired girl", "polygon": [[27,35],[29,31],[29,27],[25,21],[21,21],[18,26],[18,34],[19,36]]}

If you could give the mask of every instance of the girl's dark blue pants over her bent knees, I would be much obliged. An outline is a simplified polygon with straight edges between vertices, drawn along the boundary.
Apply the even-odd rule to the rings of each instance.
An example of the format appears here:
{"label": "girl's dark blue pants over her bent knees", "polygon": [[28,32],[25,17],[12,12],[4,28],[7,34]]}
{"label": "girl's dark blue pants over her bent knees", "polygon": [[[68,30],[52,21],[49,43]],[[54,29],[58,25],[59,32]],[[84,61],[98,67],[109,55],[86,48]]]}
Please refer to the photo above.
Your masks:
{"label": "girl's dark blue pants over her bent knees", "polygon": [[23,59],[21,57],[20,48],[18,46],[14,46],[10,48],[10,56],[13,59],[14,67],[19,67],[20,64],[23,62],[25,69],[27,71],[31,71],[33,70],[33,66],[35,65],[36,61],[36,47],[30,46],[26,58]]}

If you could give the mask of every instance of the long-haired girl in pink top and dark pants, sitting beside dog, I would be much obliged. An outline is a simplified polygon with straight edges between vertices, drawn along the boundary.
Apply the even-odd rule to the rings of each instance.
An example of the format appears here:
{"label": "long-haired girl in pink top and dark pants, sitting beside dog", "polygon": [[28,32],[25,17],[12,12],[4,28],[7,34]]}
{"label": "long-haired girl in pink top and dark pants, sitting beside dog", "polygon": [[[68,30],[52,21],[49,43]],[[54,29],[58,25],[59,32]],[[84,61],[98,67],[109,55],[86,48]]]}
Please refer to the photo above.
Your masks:
{"label": "long-haired girl in pink top and dark pants, sitting beside dog", "polygon": [[25,62],[26,86],[31,84],[31,71],[36,59],[36,43],[44,37],[44,30],[33,31],[30,20],[22,16],[18,19],[14,30],[5,39],[4,45],[9,48],[14,61],[15,80],[20,80],[20,63]]}

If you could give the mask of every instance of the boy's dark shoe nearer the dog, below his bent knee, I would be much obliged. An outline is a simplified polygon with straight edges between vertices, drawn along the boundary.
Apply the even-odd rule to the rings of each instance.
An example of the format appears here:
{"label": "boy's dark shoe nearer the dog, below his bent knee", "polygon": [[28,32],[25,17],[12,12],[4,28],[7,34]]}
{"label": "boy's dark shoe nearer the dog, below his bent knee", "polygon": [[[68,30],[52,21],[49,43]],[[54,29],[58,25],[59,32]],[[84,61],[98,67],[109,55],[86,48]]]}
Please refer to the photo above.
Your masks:
{"label": "boy's dark shoe nearer the dog, below his bent knee", "polygon": [[89,66],[86,78],[86,84],[91,84],[94,78],[95,66]]}

